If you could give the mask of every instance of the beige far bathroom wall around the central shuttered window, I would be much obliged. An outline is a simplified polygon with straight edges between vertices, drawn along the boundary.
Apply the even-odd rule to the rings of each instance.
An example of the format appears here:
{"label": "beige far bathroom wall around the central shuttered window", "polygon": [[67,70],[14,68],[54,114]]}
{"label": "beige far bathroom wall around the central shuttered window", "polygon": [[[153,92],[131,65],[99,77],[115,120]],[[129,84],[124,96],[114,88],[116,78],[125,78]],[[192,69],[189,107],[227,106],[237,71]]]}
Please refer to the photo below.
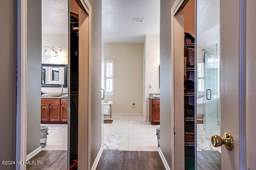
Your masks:
{"label": "beige far bathroom wall around the central shuttered window", "polygon": [[104,59],[115,61],[115,97],[105,98],[113,101],[112,113],[142,114],[143,44],[105,43],[104,49]]}

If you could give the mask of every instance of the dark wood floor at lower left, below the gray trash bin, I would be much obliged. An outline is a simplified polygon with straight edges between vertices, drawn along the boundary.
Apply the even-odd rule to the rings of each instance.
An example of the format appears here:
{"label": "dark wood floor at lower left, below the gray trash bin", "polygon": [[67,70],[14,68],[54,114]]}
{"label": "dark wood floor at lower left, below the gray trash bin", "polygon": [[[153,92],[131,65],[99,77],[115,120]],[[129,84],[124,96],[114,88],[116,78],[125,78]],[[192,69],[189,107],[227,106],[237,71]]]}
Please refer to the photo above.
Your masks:
{"label": "dark wood floor at lower left, below the gray trash bin", "polygon": [[27,165],[27,170],[67,170],[66,150],[42,150],[31,161],[42,161],[42,165]]}

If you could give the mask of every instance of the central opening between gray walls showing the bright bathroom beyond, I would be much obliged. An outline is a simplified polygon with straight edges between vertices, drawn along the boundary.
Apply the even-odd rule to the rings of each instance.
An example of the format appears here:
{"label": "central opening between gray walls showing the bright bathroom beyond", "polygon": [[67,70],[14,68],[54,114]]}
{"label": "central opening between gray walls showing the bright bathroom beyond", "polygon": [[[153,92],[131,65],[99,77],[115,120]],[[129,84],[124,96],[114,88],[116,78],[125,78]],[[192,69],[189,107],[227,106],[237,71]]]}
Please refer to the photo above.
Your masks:
{"label": "central opening between gray walls showing the bright bathroom beyond", "polygon": [[138,4],[136,0],[102,0],[101,121],[105,150],[158,150],[159,34],[160,1]]}

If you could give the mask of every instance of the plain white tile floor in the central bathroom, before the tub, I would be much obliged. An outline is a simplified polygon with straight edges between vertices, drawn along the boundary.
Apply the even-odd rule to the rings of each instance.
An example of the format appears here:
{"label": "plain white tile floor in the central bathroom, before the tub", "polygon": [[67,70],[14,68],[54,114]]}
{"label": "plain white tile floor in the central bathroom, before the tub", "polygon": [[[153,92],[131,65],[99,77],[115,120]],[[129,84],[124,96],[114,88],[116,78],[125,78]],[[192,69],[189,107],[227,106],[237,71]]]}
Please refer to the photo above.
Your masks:
{"label": "plain white tile floor in the central bathroom, before the tub", "polygon": [[[104,117],[104,119],[110,119]],[[157,151],[156,125],[144,122],[142,116],[112,116],[113,123],[104,124],[104,134],[120,134],[119,150]]]}

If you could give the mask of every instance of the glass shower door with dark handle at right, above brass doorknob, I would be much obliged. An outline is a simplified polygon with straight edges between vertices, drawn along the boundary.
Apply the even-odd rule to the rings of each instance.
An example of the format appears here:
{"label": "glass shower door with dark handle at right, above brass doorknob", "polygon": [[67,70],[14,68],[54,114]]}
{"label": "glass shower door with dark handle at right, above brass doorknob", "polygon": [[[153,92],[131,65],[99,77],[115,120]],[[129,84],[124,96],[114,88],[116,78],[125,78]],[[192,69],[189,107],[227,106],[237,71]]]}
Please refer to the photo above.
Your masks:
{"label": "glass shower door with dark handle at right, above brass doorknob", "polygon": [[218,44],[210,45],[204,49],[204,126],[206,138],[211,139],[213,134],[220,135],[219,117],[219,56]]}

